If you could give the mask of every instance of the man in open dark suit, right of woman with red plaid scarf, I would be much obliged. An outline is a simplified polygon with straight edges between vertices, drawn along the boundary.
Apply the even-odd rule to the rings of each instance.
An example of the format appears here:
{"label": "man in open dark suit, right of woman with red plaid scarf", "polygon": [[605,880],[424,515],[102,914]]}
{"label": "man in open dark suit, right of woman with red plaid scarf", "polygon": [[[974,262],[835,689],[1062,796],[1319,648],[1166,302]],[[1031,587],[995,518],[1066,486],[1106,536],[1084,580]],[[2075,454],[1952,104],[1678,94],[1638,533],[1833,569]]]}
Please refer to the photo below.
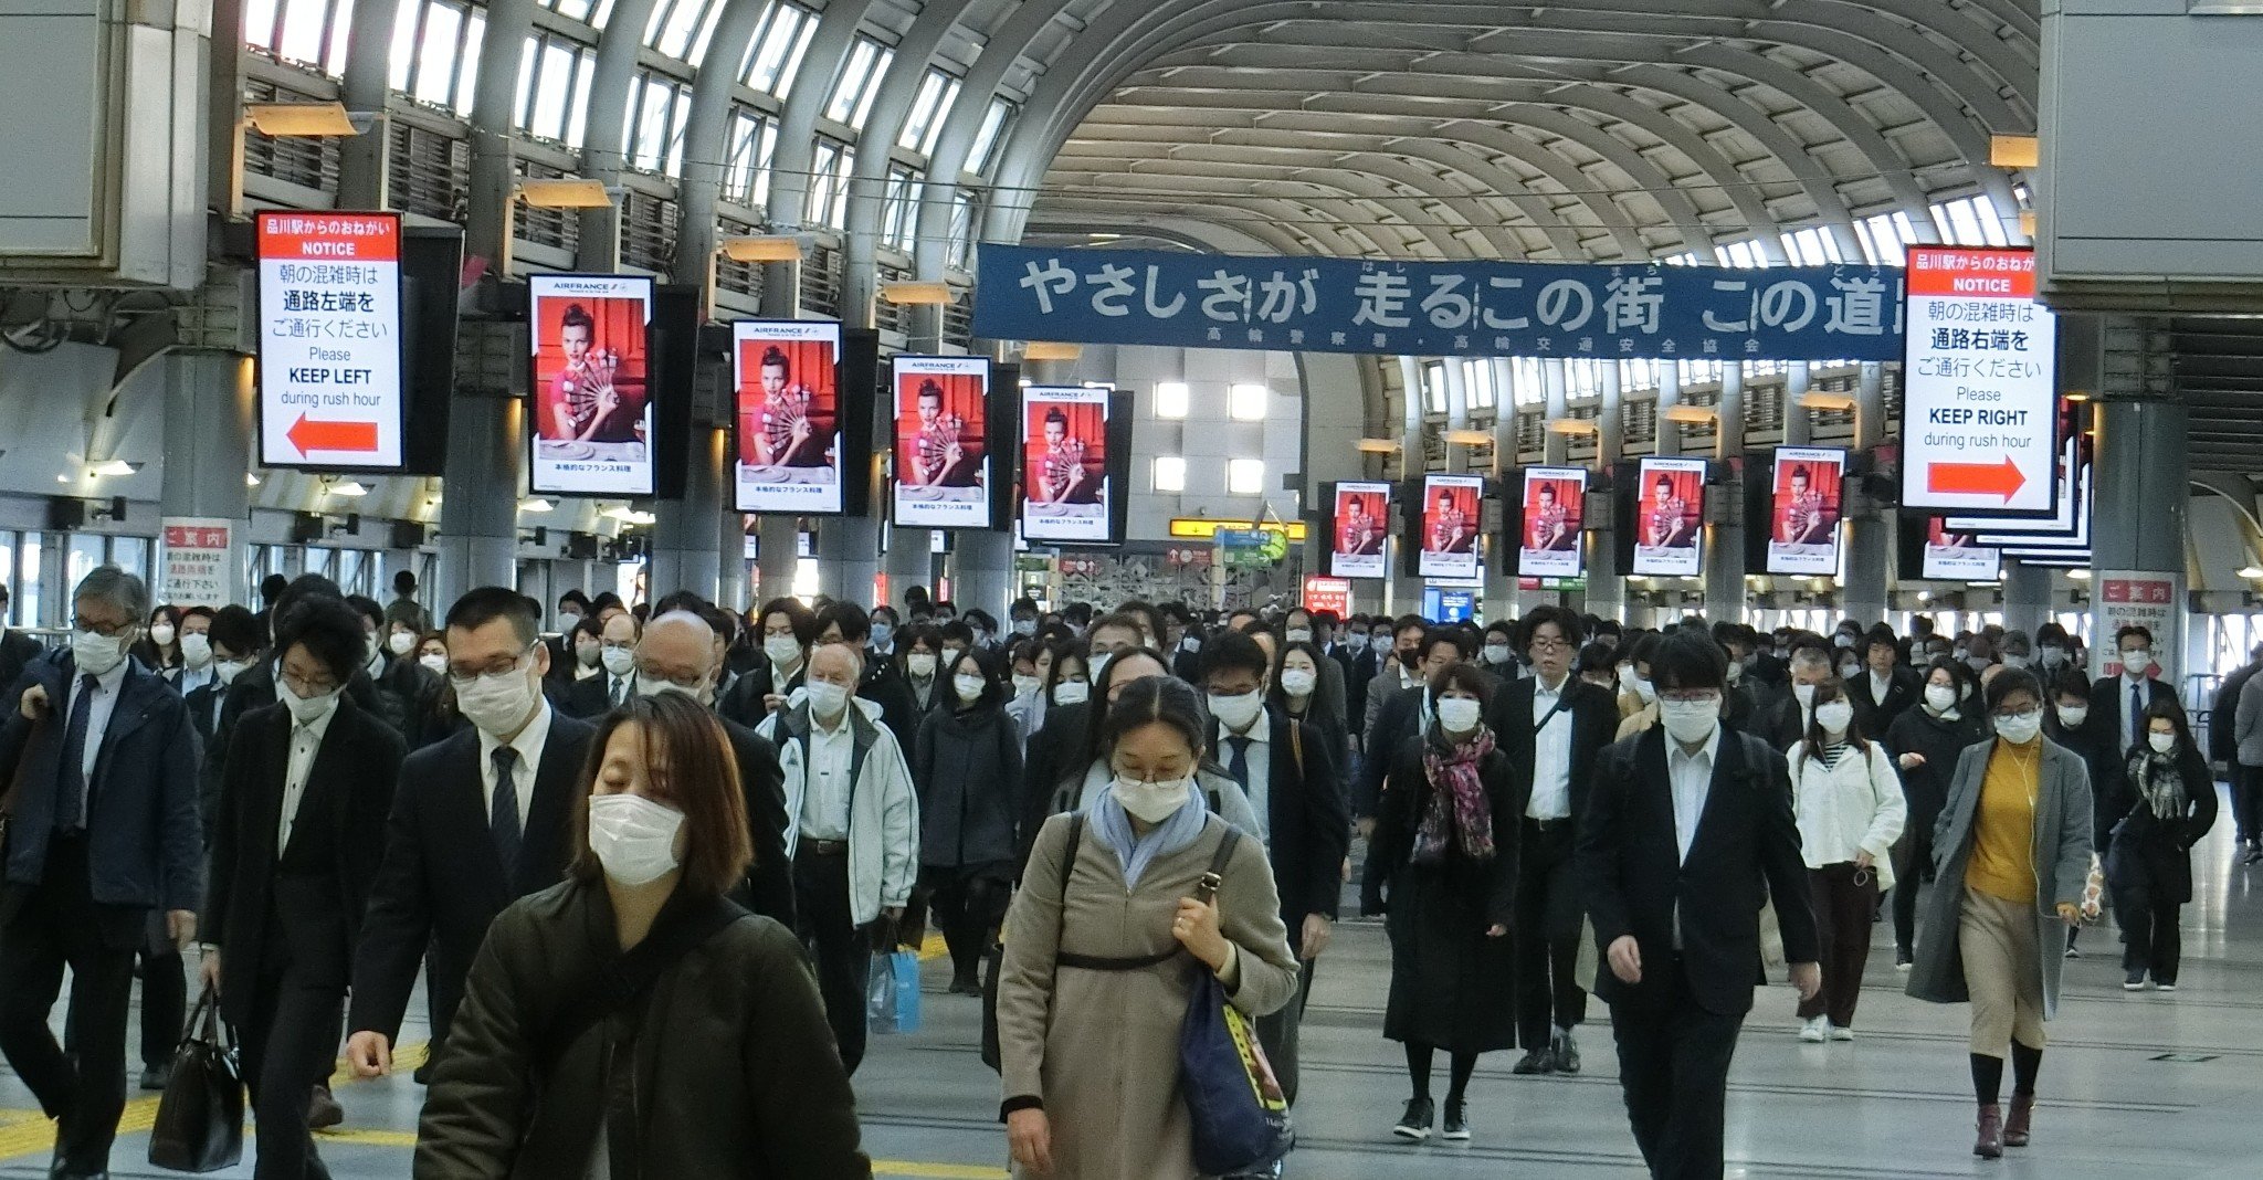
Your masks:
{"label": "man in open dark suit, right of woman with red plaid scarf", "polygon": [[1537,607],[1518,625],[1532,675],[1494,693],[1494,741],[1528,775],[1516,856],[1516,1074],[1577,1074],[1573,1028],[1586,1021],[1580,987],[1580,888],[1573,879],[1580,813],[1595,754],[1618,732],[1618,704],[1571,675],[1580,616]]}

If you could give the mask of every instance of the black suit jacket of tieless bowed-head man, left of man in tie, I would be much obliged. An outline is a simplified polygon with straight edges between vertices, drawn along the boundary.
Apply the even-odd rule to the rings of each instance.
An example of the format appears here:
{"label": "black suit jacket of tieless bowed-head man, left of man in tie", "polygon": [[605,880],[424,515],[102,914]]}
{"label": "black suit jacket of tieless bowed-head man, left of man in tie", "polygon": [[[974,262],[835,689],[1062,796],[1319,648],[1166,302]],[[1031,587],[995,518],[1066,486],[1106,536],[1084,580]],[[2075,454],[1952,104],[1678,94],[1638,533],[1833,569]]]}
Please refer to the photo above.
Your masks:
{"label": "black suit jacket of tieless bowed-head man, left of man in tie", "polygon": [[278,942],[303,983],[346,990],[385,852],[369,836],[385,827],[407,754],[401,734],[339,700],[315,750],[290,847],[276,847],[290,743],[290,709],[258,709],[235,727],[222,772],[197,931],[222,949],[220,1010],[238,1026],[256,1017],[260,972],[281,958]]}

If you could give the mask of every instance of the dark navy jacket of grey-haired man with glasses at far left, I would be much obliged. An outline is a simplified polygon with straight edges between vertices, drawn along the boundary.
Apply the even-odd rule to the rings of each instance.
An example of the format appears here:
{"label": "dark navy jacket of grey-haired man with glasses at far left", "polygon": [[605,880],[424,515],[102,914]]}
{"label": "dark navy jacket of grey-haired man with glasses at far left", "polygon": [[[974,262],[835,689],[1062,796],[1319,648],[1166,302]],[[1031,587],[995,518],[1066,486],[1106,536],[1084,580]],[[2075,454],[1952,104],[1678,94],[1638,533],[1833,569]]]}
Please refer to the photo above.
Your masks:
{"label": "dark navy jacket of grey-haired man with glasses at far left", "polygon": [[[70,652],[34,659],[7,691],[0,722],[0,779],[20,770],[9,820],[7,883],[36,886],[57,829],[59,768],[70,711]],[[48,718],[34,725],[16,707],[34,684],[48,691]],[[104,908],[104,938],[138,938],[145,910],[195,910],[204,901],[204,824],[197,815],[197,729],[181,693],[129,664],[86,781],[88,877]],[[16,892],[16,890],[9,890]],[[111,929],[115,920],[118,929]]]}

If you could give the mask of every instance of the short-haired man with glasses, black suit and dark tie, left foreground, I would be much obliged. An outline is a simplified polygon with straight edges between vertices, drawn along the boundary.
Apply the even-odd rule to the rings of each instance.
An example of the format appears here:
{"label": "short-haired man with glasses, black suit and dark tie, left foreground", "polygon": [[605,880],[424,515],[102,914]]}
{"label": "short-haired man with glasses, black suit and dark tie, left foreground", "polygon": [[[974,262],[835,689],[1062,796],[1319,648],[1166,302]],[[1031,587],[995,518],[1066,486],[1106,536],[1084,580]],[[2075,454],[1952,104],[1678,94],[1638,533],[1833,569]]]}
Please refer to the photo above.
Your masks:
{"label": "short-haired man with glasses, black suit and dark tie, left foreground", "polygon": [[471,729],[401,763],[353,956],[346,1055],[362,1076],[391,1069],[391,1042],[428,951],[432,1055],[441,1051],[487,926],[563,877],[573,809],[586,788],[582,763],[595,729],[543,700],[550,650],[527,600],[502,587],[475,589],[448,609],[446,630],[448,675]]}

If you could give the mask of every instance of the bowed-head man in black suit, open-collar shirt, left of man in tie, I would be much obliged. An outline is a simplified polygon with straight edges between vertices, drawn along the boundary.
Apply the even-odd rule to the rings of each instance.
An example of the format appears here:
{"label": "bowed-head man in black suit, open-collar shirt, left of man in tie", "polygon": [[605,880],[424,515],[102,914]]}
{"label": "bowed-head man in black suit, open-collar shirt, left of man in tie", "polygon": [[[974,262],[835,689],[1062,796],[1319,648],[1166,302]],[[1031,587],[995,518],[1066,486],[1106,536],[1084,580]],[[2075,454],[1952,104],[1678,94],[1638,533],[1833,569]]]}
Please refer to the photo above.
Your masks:
{"label": "bowed-head man in black suit, open-collar shirt, left of man in tie", "polygon": [[362,618],[310,598],[283,618],[283,700],[235,727],[213,824],[204,983],[242,1037],[258,1173],[328,1175],[308,1108],[330,1076],[380,831],[407,752],[346,698]]}

